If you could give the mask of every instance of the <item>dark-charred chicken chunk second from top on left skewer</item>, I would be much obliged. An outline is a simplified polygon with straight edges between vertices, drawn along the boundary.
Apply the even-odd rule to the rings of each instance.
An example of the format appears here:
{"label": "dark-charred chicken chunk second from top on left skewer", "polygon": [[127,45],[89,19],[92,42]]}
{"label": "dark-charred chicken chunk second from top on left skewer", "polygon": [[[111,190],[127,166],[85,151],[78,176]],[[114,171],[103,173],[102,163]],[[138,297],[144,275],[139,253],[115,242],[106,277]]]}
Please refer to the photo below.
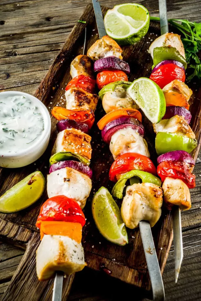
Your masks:
{"label": "dark-charred chicken chunk second from top on left skewer", "polygon": [[96,110],[99,97],[80,88],[70,88],[65,92],[66,108],[68,110]]}

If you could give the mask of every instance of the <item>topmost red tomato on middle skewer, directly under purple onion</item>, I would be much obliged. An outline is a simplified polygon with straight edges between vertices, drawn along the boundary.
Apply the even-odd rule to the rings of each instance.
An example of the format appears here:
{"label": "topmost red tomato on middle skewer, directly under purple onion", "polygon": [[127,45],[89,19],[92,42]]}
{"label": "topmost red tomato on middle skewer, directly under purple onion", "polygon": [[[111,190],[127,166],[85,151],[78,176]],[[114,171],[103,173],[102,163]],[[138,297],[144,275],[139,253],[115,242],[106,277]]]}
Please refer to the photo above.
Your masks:
{"label": "topmost red tomato on middle skewer, directly under purple onion", "polygon": [[104,70],[97,74],[96,83],[101,90],[105,85],[110,82],[116,82],[118,80],[128,81],[126,73],[120,70]]}

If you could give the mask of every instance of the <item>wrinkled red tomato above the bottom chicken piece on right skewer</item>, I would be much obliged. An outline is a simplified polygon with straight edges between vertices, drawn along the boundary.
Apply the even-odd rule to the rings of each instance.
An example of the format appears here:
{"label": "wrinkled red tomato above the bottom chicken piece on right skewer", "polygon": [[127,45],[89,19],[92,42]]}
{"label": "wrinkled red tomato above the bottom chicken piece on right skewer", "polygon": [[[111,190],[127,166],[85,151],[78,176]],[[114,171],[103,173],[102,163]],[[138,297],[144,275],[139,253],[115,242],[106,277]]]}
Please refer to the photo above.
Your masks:
{"label": "wrinkled red tomato above the bottom chicken piece on right skewer", "polygon": [[193,175],[190,170],[192,166],[186,164],[185,162],[179,161],[163,161],[157,167],[157,173],[164,182],[166,177],[181,179],[188,188],[195,187],[195,175]]}

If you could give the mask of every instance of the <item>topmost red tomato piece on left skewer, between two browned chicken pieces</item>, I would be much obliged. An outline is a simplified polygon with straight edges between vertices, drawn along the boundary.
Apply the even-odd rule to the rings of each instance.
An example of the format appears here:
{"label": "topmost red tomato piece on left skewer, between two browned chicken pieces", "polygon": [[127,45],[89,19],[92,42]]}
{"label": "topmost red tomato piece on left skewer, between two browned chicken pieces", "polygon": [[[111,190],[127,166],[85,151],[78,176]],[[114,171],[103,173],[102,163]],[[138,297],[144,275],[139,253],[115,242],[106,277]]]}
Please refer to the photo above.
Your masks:
{"label": "topmost red tomato piece on left skewer, between two browned chicken pieces", "polygon": [[88,93],[92,93],[95,90],[96,79],[93,79],[90,76],[78,75],[71,79],[71,81],[66,86],[66,91],[70,88],[81,88]]}

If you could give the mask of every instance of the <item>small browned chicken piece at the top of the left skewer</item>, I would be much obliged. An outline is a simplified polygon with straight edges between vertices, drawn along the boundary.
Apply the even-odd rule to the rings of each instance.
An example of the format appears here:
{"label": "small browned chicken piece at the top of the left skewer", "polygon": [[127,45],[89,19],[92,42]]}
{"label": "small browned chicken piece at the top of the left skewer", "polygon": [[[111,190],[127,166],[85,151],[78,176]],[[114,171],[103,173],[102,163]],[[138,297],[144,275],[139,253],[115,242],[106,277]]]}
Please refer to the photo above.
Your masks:
{"label": "small browned chicken piece at the top of the left skewer", "polygon": [[71,62],[72,78],[78,75],[93,76],[93,64],[87,55],[80,54]]}

